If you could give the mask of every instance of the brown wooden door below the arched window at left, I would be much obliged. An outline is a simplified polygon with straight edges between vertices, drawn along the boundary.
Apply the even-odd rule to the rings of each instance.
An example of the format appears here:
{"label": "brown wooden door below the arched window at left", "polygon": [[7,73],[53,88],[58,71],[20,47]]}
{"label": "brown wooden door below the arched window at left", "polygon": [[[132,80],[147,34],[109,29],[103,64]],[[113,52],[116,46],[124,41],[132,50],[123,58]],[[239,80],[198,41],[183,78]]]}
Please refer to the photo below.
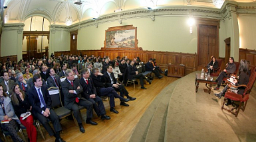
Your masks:
{"label": "brown wooden door below the arched window at left", "polygon": [[37,37],[27,36],[27,55],[29,59],[37,57]]}

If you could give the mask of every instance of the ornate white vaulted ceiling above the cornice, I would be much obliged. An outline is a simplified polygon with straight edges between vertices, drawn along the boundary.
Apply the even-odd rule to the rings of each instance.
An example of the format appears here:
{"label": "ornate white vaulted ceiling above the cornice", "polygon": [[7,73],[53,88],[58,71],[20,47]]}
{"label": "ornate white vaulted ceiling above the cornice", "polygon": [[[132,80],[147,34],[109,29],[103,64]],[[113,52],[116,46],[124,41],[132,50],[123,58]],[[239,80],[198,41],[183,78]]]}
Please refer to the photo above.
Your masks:
{"label": "ornate white vaulted ceiling above the cornice", "polygon": [[[211,7],[219,9],[225,0],[5,0],[5,23],[24,22],[29,17],[41,16],[51,24],[74,24],[93,17],[110,15],[118,9],[128,11],[147,7]],[[231,0],[233,1],[233,0]],[[252,2],[255,0],[236,0]],[[118,13],[118,12],[117,12]]]}

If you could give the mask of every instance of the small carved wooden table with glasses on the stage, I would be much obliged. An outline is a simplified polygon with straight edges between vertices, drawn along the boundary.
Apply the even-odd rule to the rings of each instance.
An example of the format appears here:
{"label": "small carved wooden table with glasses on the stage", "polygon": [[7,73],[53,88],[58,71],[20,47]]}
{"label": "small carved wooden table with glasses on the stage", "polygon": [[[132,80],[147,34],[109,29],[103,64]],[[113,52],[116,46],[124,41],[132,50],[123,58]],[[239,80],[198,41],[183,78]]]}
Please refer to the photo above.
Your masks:
{"label": "small carved wooden table with glasses on the stage", "polygon": [[199,83],[205,83],[205,87],[207,87],[207,84],[209,84],[209,87],[207,87],[209,94],[211,93],[212,85],[217,84],[215,82],[215,77],[213,77],[213,80],[211,81],[209,79],[209,77],[207,77],[207,79],[206,79],[205,76],[201,76],[201,73],[195,73],[195,92],[197,92],[197,89],[199,87]]}

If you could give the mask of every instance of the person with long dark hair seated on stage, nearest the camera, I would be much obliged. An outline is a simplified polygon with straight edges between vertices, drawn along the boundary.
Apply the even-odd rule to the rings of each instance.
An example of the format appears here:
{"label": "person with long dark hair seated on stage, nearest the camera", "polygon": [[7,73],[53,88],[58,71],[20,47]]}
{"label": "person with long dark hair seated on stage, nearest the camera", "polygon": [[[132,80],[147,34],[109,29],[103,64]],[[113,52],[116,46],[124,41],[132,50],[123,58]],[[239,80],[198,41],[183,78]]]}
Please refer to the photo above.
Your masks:
{"label": "person with long dark hair seated on stage, nearest the camera", "polygon": [[[248,70],[247,61],[245,59],[241,59],[240,65],[239,65],[239,81],[237,81],[236,79],[233,80],[233,83],[235,83],[235,86],[247,85],[249,83],[248,71],[249,70]],[[244,91],[245,91],[245,87],[239,87],[237,90],[237,94],[243,94]],[[221,96],[225,96],[225,92],[227,92],[227,85],[219,94],[215,94],[215,96],[221,98]],[[231,103],[232,103],[231,100],[227,99],[227,103],[225,105],[228,106]]]}

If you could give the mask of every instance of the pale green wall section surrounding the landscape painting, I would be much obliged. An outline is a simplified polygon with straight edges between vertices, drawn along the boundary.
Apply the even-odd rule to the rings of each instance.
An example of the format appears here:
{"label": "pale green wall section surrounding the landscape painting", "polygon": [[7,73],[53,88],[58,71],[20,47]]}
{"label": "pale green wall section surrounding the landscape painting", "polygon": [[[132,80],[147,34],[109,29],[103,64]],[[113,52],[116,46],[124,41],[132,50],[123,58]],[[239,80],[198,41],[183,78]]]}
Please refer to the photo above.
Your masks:
{"label": "pale green wall section surrounding the landscape painting", "polygon": [[100,50],[104,46],[105,30],[108,27],[133,24],[137,27],[138,47],[143,50],[168,52],[197,52],[197,27],[187,24],[189,17],[133,18],[122,20],[122,24],[107,22],[78,30],[78,50]]}

